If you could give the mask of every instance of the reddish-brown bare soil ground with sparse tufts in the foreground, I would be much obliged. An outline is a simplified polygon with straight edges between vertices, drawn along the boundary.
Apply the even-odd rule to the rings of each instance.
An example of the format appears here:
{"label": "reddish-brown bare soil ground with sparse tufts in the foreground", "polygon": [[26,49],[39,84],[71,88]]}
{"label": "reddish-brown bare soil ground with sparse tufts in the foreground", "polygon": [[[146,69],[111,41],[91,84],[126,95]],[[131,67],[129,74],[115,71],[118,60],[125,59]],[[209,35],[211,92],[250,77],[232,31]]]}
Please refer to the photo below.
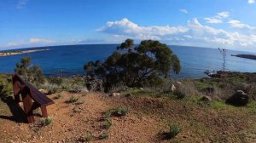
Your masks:
{"label": "reddish-brown bare soil ground with sparse tufts in the foreground", "polygon": [[[162,97],[58,94],[61,98],[48,106],[52,123],[45,127],[38,127],[42,120],[39,110],[36,123],[16,123],[9,107],[1,102],[0,142],[79,142],[86,132],[93,135],[91,142],[256,142],[256,116],[240,108],[216,110]],[[49,98],[54,99],[55,95]],[[72,95],[79,97],[81,103],[65,103]],[[113,125],[103,129],[103,114],[119,106],[128,107],[128,114],[111,117]],[[168,123],[176,123],[182,129],[172,140],[161,135],[168,130]],[[98,138],[103,132],[108,132],[108,139]]]}

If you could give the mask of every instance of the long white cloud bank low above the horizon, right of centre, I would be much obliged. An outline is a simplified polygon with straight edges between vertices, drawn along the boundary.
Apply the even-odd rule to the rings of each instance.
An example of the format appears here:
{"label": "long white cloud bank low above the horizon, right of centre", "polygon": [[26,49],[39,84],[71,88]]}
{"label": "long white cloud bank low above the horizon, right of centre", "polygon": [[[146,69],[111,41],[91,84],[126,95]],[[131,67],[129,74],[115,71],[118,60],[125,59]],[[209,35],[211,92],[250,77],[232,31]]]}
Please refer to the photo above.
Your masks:
{"label": "long white cloud bank low above the horizon, right of centre", "polygon": [[109,21],[106,26],[97,31],[111,34],[119,41],[130,37],[135,40],[155,39],[170,44],[190,43],[195,46],[209,47],[213,45],[231,48],[252,48],[256,44],[256,33],[243,34],[236,31],[224,31],[202,25],[197,19],[188,20],[187,26],[138,26],[128,19],[123,19]]}

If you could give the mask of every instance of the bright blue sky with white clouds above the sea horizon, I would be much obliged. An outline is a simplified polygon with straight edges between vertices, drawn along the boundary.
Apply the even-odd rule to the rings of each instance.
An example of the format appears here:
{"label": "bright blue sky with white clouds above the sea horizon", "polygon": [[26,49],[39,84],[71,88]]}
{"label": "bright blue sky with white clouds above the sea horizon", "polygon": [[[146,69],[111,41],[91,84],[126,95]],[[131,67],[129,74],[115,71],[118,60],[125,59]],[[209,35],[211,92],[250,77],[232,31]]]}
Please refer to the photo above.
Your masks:
{"label": "bright blue sky with white clouds above the sea horizon", "polygon": [[122,43],[256,52],[256,0],[0,0],[0,50]]}

